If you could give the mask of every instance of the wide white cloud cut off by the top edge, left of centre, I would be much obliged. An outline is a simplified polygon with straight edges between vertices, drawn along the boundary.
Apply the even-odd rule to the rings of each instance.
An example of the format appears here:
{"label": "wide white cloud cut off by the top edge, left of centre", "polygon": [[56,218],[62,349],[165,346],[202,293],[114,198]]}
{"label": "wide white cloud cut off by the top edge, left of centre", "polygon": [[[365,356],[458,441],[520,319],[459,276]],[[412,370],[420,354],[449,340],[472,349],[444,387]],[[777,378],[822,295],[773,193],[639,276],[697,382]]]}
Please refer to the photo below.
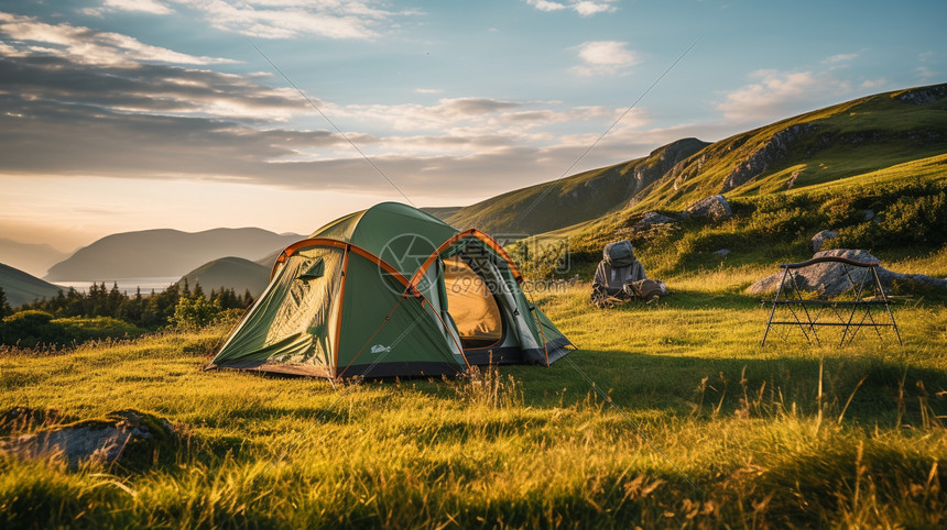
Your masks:
{"label": "wide white cloud cut off by the top edge, left of centre", "polygon": [[222,31],[260,38],[294,38],[318,35],[339,40],[371,40],[380,36],[377,27],[396,15],[372,7],[374,1],[357,0],[172,0],[202,13]]}

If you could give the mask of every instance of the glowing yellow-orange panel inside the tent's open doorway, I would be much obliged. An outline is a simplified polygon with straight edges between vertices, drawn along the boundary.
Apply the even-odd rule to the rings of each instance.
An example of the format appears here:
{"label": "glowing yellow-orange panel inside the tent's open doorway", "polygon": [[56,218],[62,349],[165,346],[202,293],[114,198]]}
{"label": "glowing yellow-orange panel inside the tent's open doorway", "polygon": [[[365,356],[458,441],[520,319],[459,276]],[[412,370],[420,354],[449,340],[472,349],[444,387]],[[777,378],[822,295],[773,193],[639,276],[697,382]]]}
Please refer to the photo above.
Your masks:
{"label": "glowing yellow-orange panel inside the tent's open doorway", "polygon": [[491,346],[503,338],[503,318],[487,281],[459,255],[444,260],[447,310],[464,349]]}

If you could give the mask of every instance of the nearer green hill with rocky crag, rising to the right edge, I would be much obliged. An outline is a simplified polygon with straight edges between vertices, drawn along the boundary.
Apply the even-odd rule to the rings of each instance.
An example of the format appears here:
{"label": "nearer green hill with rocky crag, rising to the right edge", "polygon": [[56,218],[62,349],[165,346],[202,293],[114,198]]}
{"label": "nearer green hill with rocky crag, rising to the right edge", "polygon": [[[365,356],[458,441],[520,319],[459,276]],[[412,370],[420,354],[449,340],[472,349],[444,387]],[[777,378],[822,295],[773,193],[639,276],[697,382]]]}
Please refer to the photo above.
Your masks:
{"label": "nearer green hill with rocky crag, rising to the right edge", "polygon": [[799,189],[947,153],[947,85],[860,98],[709,145],[631,199],[683,208],[708,195]]}

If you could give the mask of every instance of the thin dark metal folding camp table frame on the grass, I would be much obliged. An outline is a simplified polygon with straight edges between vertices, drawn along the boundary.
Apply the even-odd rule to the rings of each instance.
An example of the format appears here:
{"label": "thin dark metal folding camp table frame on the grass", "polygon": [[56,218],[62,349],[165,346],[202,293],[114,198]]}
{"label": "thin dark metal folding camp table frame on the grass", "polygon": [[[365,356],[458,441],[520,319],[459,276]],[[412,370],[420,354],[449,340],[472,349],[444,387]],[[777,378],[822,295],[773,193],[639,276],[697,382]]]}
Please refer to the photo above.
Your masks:
{"label": "thin dark metal folding camp table frame on the grass", "polygon": [[[804,298],[803,289],[799,288],[799,283],[796,279],[797,272],[820,263],[835,263],[842,267],[846,278],[851,284],[843,294],[849,294],[851,299]],[[901,341],[901,333],[897,331],[897,323],[894,321],[894,313],[891,312],[891,300],[881,286],[877,262],[856,262],[845,257],[823,256],[802,263],[784,263],[780,265],[780,268],[783,269],[783,276],[780,279],[776,298],[772,301],[770,320],[766,322],[766,331],[763,332],[763,341],[760,345],[766,344],[766,336],[769,336],[773,325],[798,327],[809,343],[815,341],[817,344],[820,341],[816,328],[840,327],[842,333],[839,345],[846,342],[851,343],[861,328],[873,328],[879,339],[882,339],[881,328],[892,328],[897,338],[897,343],[904,344]],[[860,278],[856,277],[859,276],[857,269],[860,269]],[[868,296],[866,296],[867,289],[872,291]],[[875,316],[879,316],[882,307],[888,312],[888,322],[875,320]],[[781,311],[780,318],[791,316],[792,320],[773,320],[776,317],[777,308],[785,309],[785,311]]]}

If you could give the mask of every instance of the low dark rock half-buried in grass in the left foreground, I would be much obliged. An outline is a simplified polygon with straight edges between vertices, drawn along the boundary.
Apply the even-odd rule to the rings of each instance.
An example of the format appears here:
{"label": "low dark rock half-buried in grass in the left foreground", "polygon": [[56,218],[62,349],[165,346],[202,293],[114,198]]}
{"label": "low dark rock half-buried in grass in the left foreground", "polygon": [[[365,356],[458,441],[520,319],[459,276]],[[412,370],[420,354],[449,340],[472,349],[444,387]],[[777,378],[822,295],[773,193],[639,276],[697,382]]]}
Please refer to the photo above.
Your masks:
{"label": "low dark rock half-buried in grass in the left foreground", "polygon": [[76,468],[84,463],[138,465],[176,440],[165,419],[127,409],[102,419],[83,420],[33,434],[0,440],[0,450],[21,459],[61,457]]}

